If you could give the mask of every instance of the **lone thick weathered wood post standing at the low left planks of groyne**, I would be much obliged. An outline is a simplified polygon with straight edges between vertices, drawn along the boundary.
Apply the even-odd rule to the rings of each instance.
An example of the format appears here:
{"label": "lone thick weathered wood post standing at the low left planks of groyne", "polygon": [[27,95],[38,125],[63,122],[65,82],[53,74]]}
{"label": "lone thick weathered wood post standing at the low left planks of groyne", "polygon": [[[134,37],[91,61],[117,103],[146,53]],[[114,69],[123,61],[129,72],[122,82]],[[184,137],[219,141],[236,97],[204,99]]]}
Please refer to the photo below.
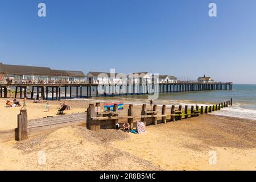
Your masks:
{"label": "lone thick weathered wood post standing at the low left planks of groyne", "polygon": [[27,139],[27,110],[20,110],[18,115],[18,140]]}

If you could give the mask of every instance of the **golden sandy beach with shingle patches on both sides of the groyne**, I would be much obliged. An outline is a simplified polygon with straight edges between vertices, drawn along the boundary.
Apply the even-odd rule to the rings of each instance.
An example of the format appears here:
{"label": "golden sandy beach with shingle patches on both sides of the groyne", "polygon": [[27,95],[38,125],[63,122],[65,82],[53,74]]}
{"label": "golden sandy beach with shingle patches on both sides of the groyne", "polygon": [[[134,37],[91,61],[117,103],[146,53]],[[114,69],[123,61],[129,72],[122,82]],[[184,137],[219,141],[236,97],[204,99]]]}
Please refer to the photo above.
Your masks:
{"label": "golden sandy beach with shingle patches on both sides of the groyne", "polygon": [[[68,103],[67,114],[89,105]],[[59,102],[49,104],[45,112],[45,103],[28,101],[28,119],[55,115]],[[6,108],[5,100],[0,105],[0,130],[14,129],[19,107]],[[45,164],[39,164],[42,152]],[[213,153],[216,164],[209,164]],[[256,121],[209,114],[147,126],[146,134],[68,126],[21,142],[0,142],[0,170],[256,170],[255,156]]]}

